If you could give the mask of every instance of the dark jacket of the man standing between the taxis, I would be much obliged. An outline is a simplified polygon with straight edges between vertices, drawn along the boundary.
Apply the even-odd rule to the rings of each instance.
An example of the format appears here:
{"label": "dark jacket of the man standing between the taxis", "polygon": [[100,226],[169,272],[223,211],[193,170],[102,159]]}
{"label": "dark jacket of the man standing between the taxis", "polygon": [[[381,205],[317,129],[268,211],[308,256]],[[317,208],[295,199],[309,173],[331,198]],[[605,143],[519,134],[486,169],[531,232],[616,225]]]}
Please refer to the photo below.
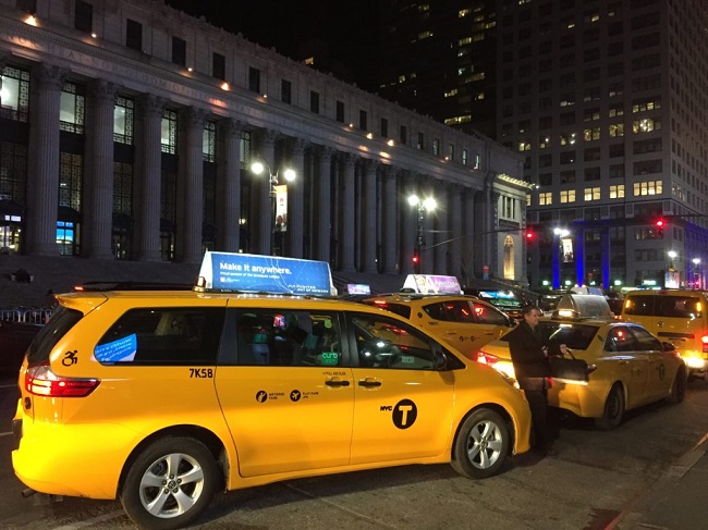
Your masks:
{"label": "dark jacket of the man standing between the taxis", "polygon": [[551,375],[551,367],[548,357],[544,355],[542,348],[546,344],[540,334],[523,321],[506,338],[518,385],[523,390],[546,389],[546,379]]}

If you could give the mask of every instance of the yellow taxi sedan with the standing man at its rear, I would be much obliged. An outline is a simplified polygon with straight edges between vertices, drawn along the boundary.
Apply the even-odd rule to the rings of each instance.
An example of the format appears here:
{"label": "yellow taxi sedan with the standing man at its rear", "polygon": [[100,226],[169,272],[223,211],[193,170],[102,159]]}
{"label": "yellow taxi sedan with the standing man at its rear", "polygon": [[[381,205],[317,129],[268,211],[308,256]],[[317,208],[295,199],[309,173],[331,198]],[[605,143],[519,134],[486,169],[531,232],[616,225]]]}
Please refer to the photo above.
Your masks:
{"label": "yellow taxi sedan with the standing man at its rear", "polygon": [[[683,400],[687,382],[684,361],[671,345],[643,326],[611,319],[554,316],[541,320],[539,328],[551,352],[565,344],[590,372],[577,380],[554,378],[548,391],[549,405],[595,418],[600,429],[613,429],[626,410],[660,399]],[[514,378],[504,337],[485,345],[477,360]]]}

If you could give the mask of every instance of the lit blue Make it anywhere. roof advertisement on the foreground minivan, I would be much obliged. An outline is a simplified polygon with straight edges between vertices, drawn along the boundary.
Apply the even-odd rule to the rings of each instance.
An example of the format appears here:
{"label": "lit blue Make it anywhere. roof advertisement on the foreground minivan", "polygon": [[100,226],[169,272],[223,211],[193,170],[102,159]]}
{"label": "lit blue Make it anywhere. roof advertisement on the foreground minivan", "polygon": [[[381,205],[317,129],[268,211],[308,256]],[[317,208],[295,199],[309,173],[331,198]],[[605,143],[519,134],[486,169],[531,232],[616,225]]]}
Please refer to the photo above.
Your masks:
{"label": "lit blue Make it anywhere. roof advertisement on the foreground minivan", "polygon": [[208,289],[334,295],[329,263],[252,254],[205,252],[199,275]]}

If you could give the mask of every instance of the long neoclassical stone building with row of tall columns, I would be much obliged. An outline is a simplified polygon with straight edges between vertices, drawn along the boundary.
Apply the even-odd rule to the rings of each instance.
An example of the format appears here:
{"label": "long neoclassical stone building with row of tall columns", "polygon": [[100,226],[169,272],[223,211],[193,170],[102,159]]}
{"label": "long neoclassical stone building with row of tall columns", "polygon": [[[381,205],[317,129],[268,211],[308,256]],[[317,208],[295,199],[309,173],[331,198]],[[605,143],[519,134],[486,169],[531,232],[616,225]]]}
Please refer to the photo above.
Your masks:
{"label": "long neoclassical stone building with row of tall columns", "polygon": [[0,0],[0,67],[4,252],[526,281],[517,155],[159,0]]}

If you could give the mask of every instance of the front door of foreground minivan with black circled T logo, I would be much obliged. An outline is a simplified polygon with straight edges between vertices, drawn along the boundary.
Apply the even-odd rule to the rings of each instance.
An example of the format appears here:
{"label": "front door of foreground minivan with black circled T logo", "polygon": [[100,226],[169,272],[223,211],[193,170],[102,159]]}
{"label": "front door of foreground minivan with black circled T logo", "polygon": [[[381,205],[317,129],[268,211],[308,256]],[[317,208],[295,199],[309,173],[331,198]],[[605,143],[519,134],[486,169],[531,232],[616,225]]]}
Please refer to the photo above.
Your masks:
{"label": "front door of foreground minivan with black circled T logo", "polygon": [[378,315],[356,315],[352,464],[440,455],[449,444],[453,372],[434,370],[431,341]]}

